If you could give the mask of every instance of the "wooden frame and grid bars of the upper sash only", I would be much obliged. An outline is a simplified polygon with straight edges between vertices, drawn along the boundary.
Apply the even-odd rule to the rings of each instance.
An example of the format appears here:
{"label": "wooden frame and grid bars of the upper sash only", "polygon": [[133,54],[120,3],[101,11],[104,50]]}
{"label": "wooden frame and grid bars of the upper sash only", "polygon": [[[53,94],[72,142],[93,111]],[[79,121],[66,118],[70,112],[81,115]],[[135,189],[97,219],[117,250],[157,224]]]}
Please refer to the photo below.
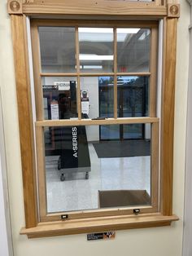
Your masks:
{"label": "wooden frame and grid bars of the upper sash only", "polygon": [[[99,26],[101,26],[102,28],[105,26],[107,28],[111,28],[112,26],[114,26],[114,22],[98,22],[98,26],[97,28],[99,29]],[[74,27],[72,27],[72,25]],[[83,28],[83,26],[85,25],[84,21],[80,21],[80,24],[78,24],[80,27],[80,31],[81,28]],[[91,25],[91,24],[89,24]],[[54,72],[54,73],[41,73],[41,56],[42,53],[40,54],[40,52],[43,49],[43,42],[42,39],[39,39],[39,29],[41,30],[41,28],[45,28],[46,31],[49,31],[49,27],[50,30],[54,30],[54,29],[71,29],[71,28],[76,28],[76,36],[73,35],[74,38],[74,43],[73,43],[73,47],[75,47],[75,49],[73,50],[74,55],[77,56],[77,58],[75,58],[75,62],[73,63],[73,67],[75,65],[74,68],[76,68],[76,70],[74,69],[74,73],[58,73],[58,72]],[[89,27],[86,27],[89,28]],[[91,27],[90,27],[91,28]],[[148,42],[149,45],[149,68],[150,68],[150,72],[141,72],[140,70],[138,72],[125,72],[125,73],[120,73],[118,72],[118,66],[117,66],[117,56],[118,56],[118,52],[117,52],[117,43],[118,43],[118,30],[116,31],[116,28],[120,28],[120,31],[122,29],[133,29],[136,30],[137,28],[141,28],[143,29],[143,33],[141,32],[141,34],[139,35],[139,38],[141,38],[141,40],[139,38],[137,38],[138,42],[142,42],[142,37],[150,37],[150,42]],[[134,29],[135,28],[135,29]],[[142,30],[141,30],[142,31]],[[116,33],[117,32],[117,33]],[[148,32],[148,33],[147,33]],[[150,32],[150,34],[149,34]],[[74,34],[74,33],[73,33]],[[122,38],[122,37],[121,37]],[[112,40],[113,39],[113,40]],[[120,39],[119,39],[120,40]],[[78,112],[78,118],[81,119],[81,78],[82,77],[102,77],[102,76],[111,76],[112,79],[114,80],[113,82],[113,94],[114,94],[114,115],[113,117],[117,118],[118,113],[117,113],[117,88],[118,88],[118,79],[120,79],[119,77],[122,77],[123,75],[127,75],[127,76],[136,76],[136,77],[141,77],[141,76],[146,76],[149,77],[149,112],[148,112],[148,116],[149,117],[156,117],[156,67],[157,67],[157,24],[155,22],[149,23],[149,22],[144,22],[144,23],[133,23],[133,22],[129,22],[129,23],[122,23],[122,22],[117,22],[116,27],[114,27],[113,29],[113,36],[111,38],[111,43],[112,43],[112,51],[113,51],[113,60],[112,60],[112,73],[111,72],[105,72],[105,73],[81,73],[81,60],[79,58],[79,56],[81,56],[81,47],[79,46],[81,40],[79,40],[79,31],[78,31],[78,27],[76,27],[76,22],[74,23],[74,21],[64,21],[64,20],[53,20],[53,22],[51,23],[49,20],[46,21],[45,20],[37,20],[37,22],[35,22],[33,20],[33,25],[32,25],[32,42],[33,42],[33,63],[34,63],[34,73],[35,73],[35,91],[36,91],[36,105],[37,105],[37,121],[42,121],[44,118],[44,113],[43,113],[43,105],[42,105],[42,98],[43,98],[43,92],[41,89],[41,86],[39,86],[39,84],[41,84],[41,82],[43,82],[45,79],[47,79],[47,81],[50,81],[50,77],[52,77],[53,81],[59,81],[59,77],[61,77],[61,82],[67,80],[72,80],[72,81],[76,81],[76,102],[77,102],[77,112]],[[40,44],[39,44],[40,42]],[[41,50],[37,51],[37,49],[42,48]],[[126,50],[126,49],[125,49]],[[137,51],[137,50],[136,50]],[[78,54],[80,53],[80,55]],[[153,57],[151,57],[151,55],[153,55]],[[84,57],[84,55],[83,55]],[[98,56],[99,57],[99,56]],[[103,56],[102,56],[103,57]],[[122,69],[122,68],[121,68]],[[131,70],[131,68],[129,68]],[[122,70],[124,71],[124,70]],[[47,77],[47,78],[46,78]],[[55,78],[54,78],[55,77]],[[63,78],[62,78],[63,77]],[[65,78],[66,77],[66,78]],[[42,80],[44,79],[44,80]],[[121,79],[122,80],[122,79]],[[48,82],[49,83],[49,82]],[[44,87],[45,86],[49,86],[47,83],[44,83]]]}

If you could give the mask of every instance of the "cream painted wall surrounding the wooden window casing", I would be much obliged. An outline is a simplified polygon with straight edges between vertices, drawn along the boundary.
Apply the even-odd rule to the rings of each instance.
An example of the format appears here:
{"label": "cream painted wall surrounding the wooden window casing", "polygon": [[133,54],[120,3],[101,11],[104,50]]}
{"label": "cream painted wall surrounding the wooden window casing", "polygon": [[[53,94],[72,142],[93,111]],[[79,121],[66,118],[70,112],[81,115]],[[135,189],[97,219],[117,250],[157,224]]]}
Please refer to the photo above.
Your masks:
{"label": "cream painted wall surrounding the wooden window casing", "polygon": [[[116,232],[114,241],[86,241],[86,236],[59,236],[28,240],[20,236],[24,226],[24,198],[20,164],[20,138],[15,94],[15,74],[11,45],[11,24],[7,15],[7,0],[0,1],[0,86],[7,146],[7,170],[11,205],[11,224],[15,256],[181,256],[184,177],[185,124],[188,82],[190,8],[181,0],[178,24],[177,84],[174,141],[173,211],[180,220],[171,227],[134,229]],[[171,43],[171,42],[170,42]],[[185,44],[185,46],[184,46]]]}

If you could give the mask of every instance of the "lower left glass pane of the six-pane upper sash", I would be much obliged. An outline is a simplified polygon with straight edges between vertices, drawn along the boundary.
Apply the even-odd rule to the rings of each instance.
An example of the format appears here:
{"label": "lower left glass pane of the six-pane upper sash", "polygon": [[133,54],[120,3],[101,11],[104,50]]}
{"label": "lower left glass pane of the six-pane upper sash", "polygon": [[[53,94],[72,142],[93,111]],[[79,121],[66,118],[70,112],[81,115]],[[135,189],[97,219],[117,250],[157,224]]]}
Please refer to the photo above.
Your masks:
{"label": "lower left glass pane of the six-pane upper sash", "polygon": [[44,119],[77,117],[76,77],[42,77]]}

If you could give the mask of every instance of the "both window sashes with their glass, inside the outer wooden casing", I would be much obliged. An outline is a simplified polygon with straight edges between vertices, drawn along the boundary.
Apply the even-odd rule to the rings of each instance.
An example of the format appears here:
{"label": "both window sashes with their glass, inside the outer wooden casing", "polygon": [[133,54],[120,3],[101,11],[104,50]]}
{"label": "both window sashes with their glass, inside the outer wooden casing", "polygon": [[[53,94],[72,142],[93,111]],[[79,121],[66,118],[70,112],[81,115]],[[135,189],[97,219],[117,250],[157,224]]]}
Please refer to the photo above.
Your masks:
{"label": "both window sashes with their glass, inside the outer wooden casing", "polygon": [[157,34],[33,20],[41,220],[158,210]]}

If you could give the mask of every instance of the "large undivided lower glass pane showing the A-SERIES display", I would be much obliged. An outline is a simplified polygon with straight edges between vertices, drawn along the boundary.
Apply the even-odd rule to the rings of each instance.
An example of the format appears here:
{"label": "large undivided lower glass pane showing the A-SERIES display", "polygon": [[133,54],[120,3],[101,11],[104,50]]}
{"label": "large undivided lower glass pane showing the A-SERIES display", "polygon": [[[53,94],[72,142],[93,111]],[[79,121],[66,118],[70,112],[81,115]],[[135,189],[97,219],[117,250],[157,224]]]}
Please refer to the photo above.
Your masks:
{"label": "large undivided lower glass pane showing the A-SERIES display", "polygon": [[142,126],[147,138],[110,141],[99,126],[45,127],[47,211],[151,205],[151,125]]}

